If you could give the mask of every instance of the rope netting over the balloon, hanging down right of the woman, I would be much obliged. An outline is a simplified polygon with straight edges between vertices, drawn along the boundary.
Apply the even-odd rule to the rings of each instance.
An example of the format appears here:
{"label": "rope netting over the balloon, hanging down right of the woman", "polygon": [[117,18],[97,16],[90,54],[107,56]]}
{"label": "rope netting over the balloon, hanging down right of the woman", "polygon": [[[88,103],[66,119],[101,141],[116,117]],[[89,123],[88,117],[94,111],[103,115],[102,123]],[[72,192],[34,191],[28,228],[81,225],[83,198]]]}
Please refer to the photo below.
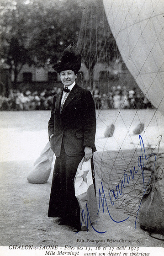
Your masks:
{"label": "rope netting over the balloon, hanging down right of the woman", "polygon": [[[154,171],[155,183],[158,184],[164,198],[164,117],[159,112],[164,109],[164,58],[158,58],[154,50],[160,48],[164,51],[161,42],[164,22],[161,23],[158,14],[160,0],[149,1],[151,8],[148,11],[153,11],[150,18],[140,23],[137,41],[134,40],[131,44],[129,35],[135,33],[136,23],[144,20],[141,14],[146,11],[148,1],[120,0],[118,4],[117,1],[108,0],[108,10],[104,10],[105,2],[104,5],[99,0],[86,3],[77,45],[82,53],[83,63],[89,69],[90,84],[85,84],[83,74],[81,83],[88,86],[92,92],[97,109],[97,152],[94,155],[97,178],[102,181],[104,189],[108,192],[106,199],[111,205],[123,209],[124,213],[137,216],[143,193],[151,183]],[[131,12],[132,4],[137,5],[135,16]],[[120,12],[122,21],[119,27],[116,21]],[[113,14],[111,26],[108,24],[109,14]],[[131,25],[127,28],[129,19]],[[153,34],[150,26],[153,27]],[[121,45],[119,35],[122,35],[123,28],[124,40]],[[146,32],[146,28],[149,29],[149,33]],[[152,35],[154,40],[148,45],[147,39]],[[144,48],[146,55],[141,64],[138,64],[138,59],[142,59],[139,45],[141,38],[142,51]],[[126,58],[122,56],[123,53]],[[151,67],[144,74],[149,58]],[[128,71],[130,65],[135,70],[132,73],[131,69],[132,84],[129,84],[132,76]],[[101,70],[106,71],[103,73],[105,77],[94,75],[98,74],[100,66]],[[154,88],[156,83],[158,86],[160,83],[158,88],[161,88],[161,91]],[[153,100],[151,90],[154,93]],[[138,94],[134,101],[133,94]],[[121,100],[116,101],[120,96]],[[148,104],[145,105],[145,102]]]}

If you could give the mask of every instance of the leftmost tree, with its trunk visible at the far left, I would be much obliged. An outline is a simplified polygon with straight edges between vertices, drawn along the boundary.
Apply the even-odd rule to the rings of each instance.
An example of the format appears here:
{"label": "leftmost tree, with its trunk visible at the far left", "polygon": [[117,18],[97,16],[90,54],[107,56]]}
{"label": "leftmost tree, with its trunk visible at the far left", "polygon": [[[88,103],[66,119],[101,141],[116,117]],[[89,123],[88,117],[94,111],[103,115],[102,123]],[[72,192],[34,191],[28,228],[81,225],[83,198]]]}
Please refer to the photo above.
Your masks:
{"label": "leftmost tree, with its trunk visible at the far left", "polygon": [[0,34],[2,51],[0,59],[10,66],[14,73],[14,88],[16,88],[17,75],[25,63],[32,64],[31,54],[28,51],[26,28],[30,21],[26,19],[27,6],[21,1],[0,2]]}

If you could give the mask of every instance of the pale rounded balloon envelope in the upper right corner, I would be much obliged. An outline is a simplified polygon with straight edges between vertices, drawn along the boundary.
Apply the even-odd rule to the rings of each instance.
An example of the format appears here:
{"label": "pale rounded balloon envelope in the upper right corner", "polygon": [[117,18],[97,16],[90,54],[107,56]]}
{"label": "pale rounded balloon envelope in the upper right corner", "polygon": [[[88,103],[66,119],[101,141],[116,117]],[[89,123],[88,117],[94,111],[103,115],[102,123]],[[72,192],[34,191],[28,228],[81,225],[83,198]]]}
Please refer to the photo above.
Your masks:
{"label": "pale rounded balloon envelope in the upper right corner", "polygon": [[164,1],[103,0],[124,63],[164,115]]}

